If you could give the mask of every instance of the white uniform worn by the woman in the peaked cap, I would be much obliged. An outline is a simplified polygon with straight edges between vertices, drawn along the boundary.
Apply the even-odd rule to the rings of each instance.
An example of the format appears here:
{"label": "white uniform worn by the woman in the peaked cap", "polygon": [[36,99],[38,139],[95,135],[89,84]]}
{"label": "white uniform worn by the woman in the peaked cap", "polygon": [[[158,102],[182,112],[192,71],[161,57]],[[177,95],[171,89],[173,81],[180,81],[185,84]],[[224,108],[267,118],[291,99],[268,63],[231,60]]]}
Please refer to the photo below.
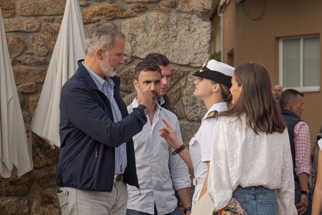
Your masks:
{"label": "white uniform worn by the woman in the peaked cap", "polygon": [[191,138],[189,142],[190,157],[192,160],[194,169],[193,173],[195,176],[195,193],[192,197],[192,205],[194,205],[199,198],[203,181],[206,178],[208,172],[207,161],[210,161],[211,141],[213,129],[215,127],[217,119],[205,119],[208,114],[214,110],[218,112],[227,110],[227,105],[225,102],[220,102],[214,104],[211,108],[209,108],[209,110],[201,120],[201,125],[198,132],[194,135],[194,137]]}

